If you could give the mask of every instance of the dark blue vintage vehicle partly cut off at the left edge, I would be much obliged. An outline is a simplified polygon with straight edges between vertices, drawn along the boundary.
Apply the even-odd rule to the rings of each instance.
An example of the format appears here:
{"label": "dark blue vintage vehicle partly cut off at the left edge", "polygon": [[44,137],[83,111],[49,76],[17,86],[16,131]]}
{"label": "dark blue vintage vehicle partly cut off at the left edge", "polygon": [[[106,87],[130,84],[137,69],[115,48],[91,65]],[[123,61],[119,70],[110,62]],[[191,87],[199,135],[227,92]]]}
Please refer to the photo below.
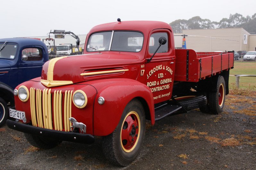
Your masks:
{"label": "dark blue vintage vehicle partly cut off at the left edge", "polygon": [[49,60],[45,43],[31,38],[0,39],[0,127],[14,106],[13,89],[24,81],[39,77]]}

